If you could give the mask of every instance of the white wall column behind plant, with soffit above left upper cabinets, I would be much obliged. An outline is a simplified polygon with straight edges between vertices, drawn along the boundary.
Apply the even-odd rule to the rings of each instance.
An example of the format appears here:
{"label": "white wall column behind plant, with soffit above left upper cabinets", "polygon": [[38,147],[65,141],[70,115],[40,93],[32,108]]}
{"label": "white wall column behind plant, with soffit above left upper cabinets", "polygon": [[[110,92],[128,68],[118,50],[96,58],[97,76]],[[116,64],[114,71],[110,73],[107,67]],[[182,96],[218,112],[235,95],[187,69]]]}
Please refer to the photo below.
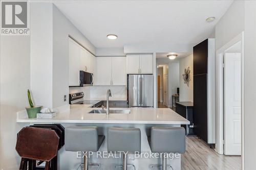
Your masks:
{"label": "white wall column behind plant, with soffit above left upper cabinets", "polygon": [[69,36],[94,54],[96,48],[52,3],[30,6],[31,90],[35,103],[49,108],[68,104]]}

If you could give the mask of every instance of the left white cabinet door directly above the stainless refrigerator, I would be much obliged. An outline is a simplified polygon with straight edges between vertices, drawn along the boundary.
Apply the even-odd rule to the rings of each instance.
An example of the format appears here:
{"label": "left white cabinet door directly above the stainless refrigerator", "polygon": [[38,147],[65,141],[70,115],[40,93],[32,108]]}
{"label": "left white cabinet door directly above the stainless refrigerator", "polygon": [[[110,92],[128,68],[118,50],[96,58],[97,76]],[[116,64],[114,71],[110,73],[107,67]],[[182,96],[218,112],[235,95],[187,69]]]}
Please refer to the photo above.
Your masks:
{"label": "left white cabinet door directly above the stainless refrigerator", "polygon": [[126,69],[127,74],[139,74],[140,69],[140,55],[127,54],[126,55]]}

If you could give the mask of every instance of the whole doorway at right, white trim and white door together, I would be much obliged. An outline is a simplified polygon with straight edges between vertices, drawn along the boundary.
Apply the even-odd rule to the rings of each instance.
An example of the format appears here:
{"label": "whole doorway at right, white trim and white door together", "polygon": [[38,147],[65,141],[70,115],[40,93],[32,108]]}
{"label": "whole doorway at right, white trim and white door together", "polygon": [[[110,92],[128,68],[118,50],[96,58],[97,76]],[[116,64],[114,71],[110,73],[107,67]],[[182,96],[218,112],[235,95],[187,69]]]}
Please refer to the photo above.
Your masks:
{"label": "whole doorway at right, white trim and white door together", "polygon": [[243,156],[243,33],[217,51],[216,151]]}

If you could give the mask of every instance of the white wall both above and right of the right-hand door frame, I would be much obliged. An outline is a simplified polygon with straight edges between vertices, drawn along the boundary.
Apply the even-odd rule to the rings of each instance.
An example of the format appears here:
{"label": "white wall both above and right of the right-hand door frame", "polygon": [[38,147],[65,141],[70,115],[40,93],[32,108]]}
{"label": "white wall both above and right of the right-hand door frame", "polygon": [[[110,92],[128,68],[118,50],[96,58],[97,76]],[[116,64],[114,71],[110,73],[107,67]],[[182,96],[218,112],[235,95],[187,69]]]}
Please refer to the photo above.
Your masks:
{"label": "white wall both above and right of the right-hand door frame", "polygon": [[244,31],[244,169],[256,169],[256,2],[234,1],[216,26],[216,49]]}

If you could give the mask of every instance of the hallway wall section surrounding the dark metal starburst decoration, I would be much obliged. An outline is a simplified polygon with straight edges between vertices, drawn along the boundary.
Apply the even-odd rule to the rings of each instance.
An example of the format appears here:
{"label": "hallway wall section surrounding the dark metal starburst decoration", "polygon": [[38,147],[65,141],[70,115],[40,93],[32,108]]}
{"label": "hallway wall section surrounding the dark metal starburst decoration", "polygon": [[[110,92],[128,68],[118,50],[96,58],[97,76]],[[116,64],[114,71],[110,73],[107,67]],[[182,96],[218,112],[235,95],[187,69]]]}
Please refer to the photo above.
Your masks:
{"label": "hallway wall section surrounding the dark metal starburst decoration", "polygon": [[[190,69],[190,82],[187,86],[184,84],[182,74],[185,68]],[[180,102],[193,102],[193,55],[180,59]]]}

